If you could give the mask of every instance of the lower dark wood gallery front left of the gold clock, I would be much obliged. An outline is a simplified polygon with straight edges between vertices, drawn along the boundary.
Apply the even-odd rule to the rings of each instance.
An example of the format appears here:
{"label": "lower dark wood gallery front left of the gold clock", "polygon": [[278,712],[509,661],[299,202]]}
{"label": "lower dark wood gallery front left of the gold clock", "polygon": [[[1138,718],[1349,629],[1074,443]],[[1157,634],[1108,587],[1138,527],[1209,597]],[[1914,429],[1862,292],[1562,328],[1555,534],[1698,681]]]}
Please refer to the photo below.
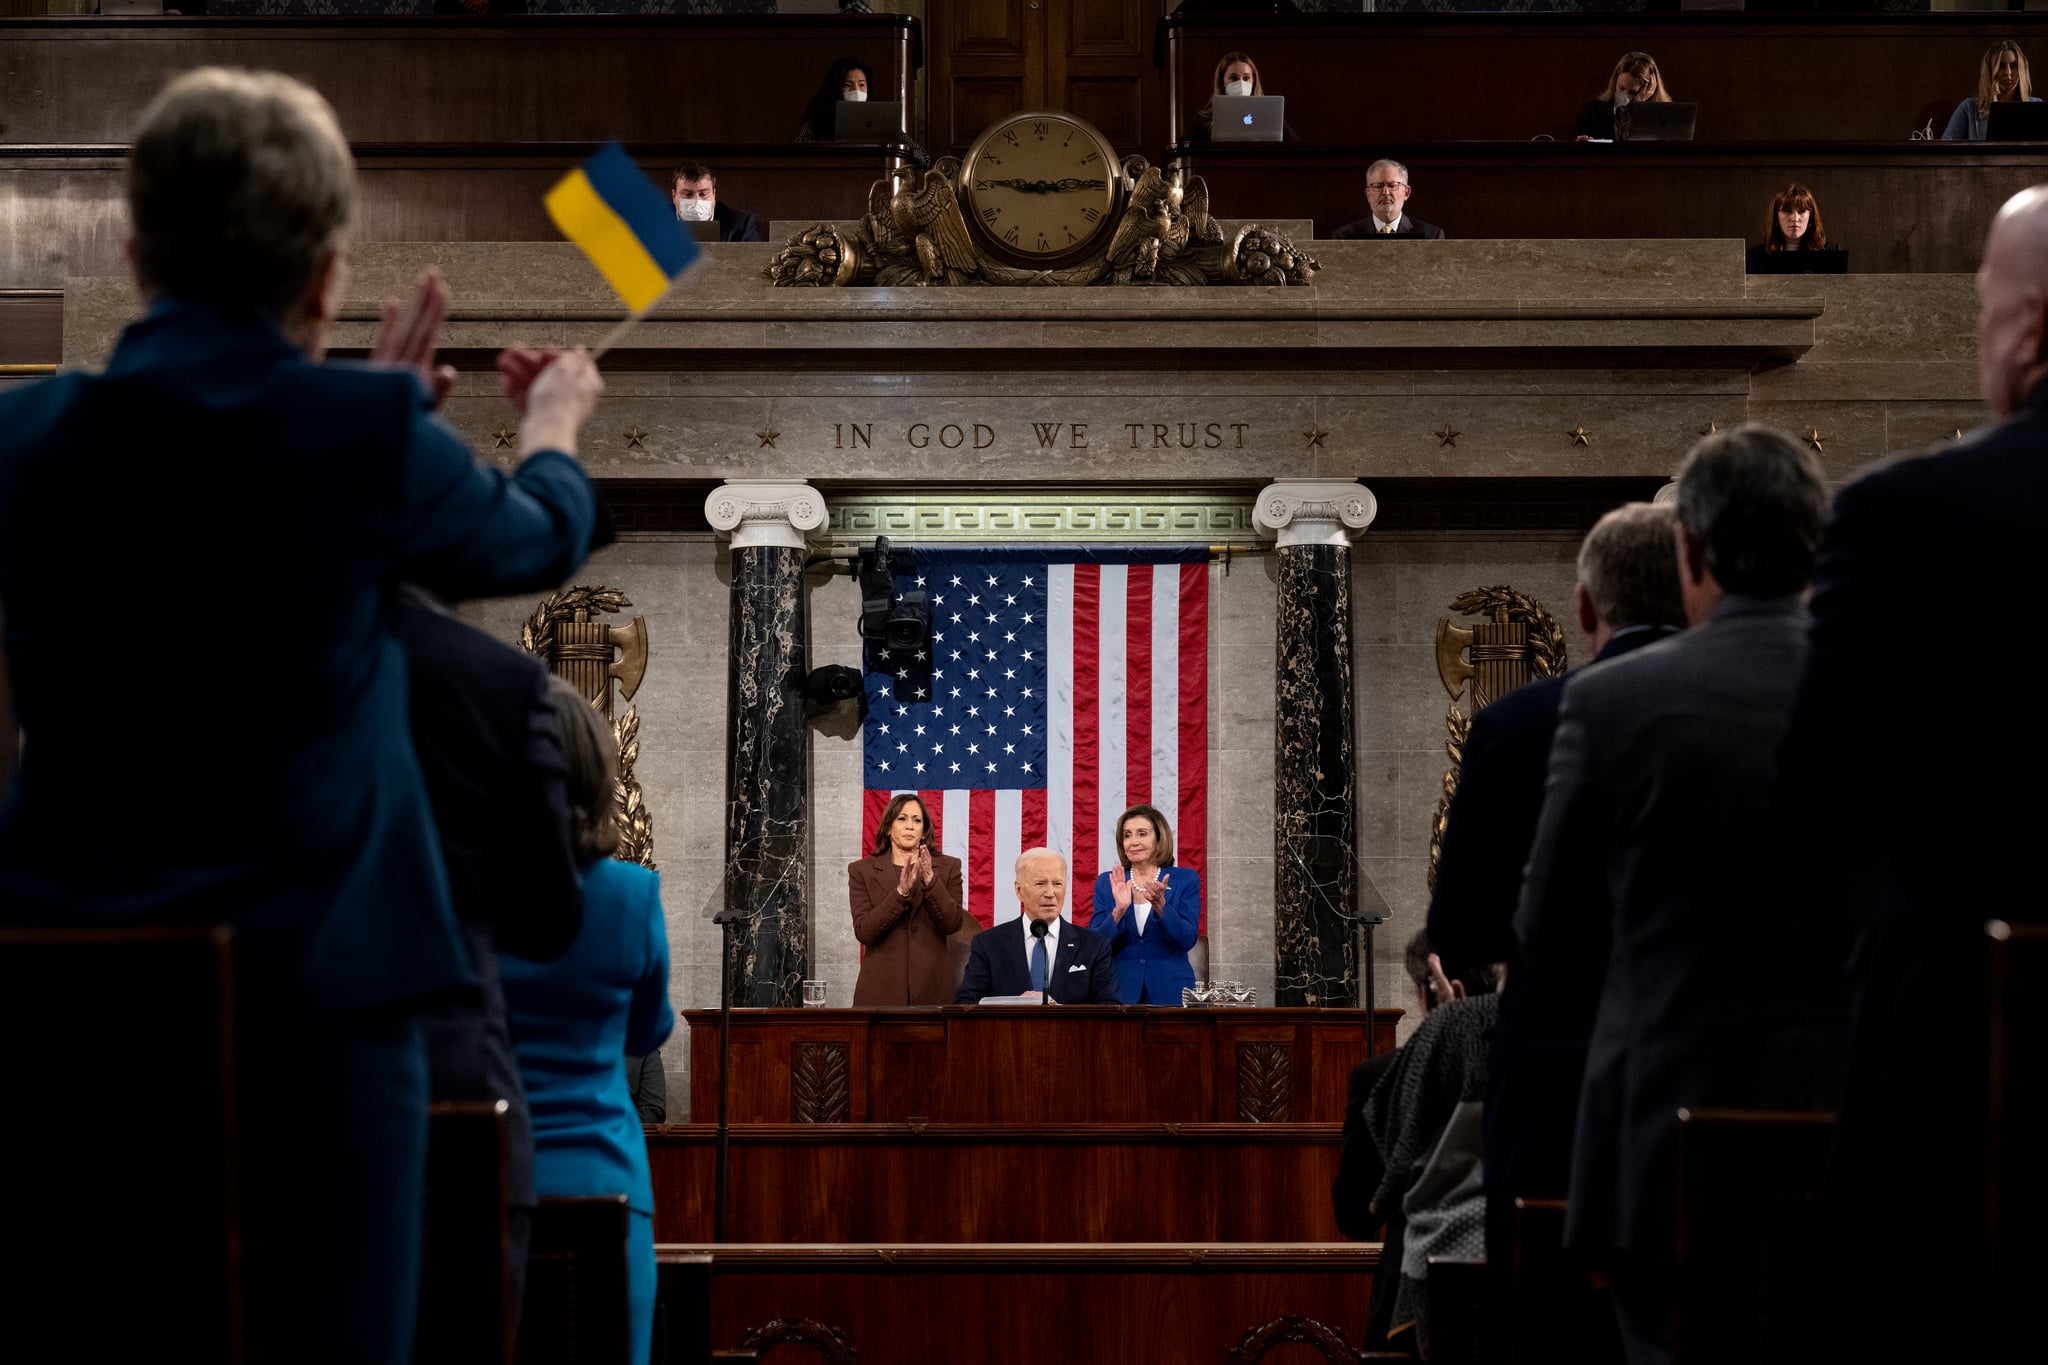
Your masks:
{"label": "lower dark wood gallery front left of the gold clock", "polygon": [[[557,241],[541,196],[594,151],[553,147],[356,147],[356,241]],[[0,145],[0,289],[55,289],[66,276],[127,274],[125,147]],[[877,147],[641,145],[666,184],[682,158],[719,174],[719,199],[774,219],[858,219],[895,164]]]}

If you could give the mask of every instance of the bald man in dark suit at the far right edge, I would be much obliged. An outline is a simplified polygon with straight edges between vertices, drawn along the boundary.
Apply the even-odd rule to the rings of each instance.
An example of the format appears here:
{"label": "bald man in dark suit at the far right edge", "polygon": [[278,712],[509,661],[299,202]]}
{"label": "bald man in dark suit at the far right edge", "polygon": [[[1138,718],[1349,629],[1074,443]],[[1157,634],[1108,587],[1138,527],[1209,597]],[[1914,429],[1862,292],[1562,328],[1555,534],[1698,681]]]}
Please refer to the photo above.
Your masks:
{"label": "bald man in dark suit at the far right edge", "polygon": [[[1993,221],[1978,297],[1978,383],[1997,420],[1878,465],[1835,497],[1780,780],[1782,808],[1810,831],[1817,886],[1806,894],[1843,913],[1851,1011],[1833,1179],[1851,1218],[1851,1281],[1882,1254],[1872,1238],[1894,1240],[1903,1187],[1915,1224],[1942,1230],[1915,1259],[1915,1300],[1944,1312],[1841,1314],[1868,1318],[1896,1359],[2025,1355],[1987,1340],[1978,1312],[1985,921],[2048,915],[2048,898],[2015,872],[2015,853],[2048,825],[2048,741],[2025,716],[1987,718],[2005,651],[2019,647],[2007,632],[2025,626],[2019,616],[1989,628],[1974,604],[1995,620],[1987,593],[2040,573],[2048,188],[2023,190]],[[2038,1248],[2038,1209],[2007,1218]]]}

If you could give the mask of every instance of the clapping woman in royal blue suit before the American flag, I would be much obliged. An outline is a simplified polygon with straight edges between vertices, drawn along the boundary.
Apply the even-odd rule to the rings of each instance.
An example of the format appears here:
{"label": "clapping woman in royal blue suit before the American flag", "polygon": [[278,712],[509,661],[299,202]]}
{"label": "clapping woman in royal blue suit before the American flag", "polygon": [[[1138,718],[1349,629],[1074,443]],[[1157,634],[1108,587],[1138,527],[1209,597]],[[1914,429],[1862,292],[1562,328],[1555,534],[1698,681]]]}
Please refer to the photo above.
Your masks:
{"label": "clapping woman in royal blue suit before the American flag", "polygon": [[1090,929],[1116,956],[1116,993],[1124,1005],[1180,1005],[1194,984],[1188,950],[1202,925],[1202,878],[1174,866],[1174,829],[1153,806],[1116,819],[1116,860],[1096,878]]}

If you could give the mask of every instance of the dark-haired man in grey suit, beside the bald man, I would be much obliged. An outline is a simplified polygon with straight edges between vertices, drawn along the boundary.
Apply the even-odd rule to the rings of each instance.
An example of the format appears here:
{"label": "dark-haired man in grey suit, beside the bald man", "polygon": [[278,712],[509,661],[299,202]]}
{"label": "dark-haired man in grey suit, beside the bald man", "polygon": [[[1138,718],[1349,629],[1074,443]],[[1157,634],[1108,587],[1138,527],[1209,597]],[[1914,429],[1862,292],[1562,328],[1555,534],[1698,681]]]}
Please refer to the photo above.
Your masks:
{"label": "dark-haired man in grey suit, beside the bald man", "polygon": [[1575,970],[1587,898],[1610,898],[1565,1240],[1606,1271],[1636,1365],[1671,1359],[1677,1109],[1815,1107],[1833,1083],[1825,935],[1784,896],[1769,817],[1825,501],[1782,432],[1694,446],[1677,493],[1694,628],[1575,673],[1559,704],[1516,939],[1532,974]]}

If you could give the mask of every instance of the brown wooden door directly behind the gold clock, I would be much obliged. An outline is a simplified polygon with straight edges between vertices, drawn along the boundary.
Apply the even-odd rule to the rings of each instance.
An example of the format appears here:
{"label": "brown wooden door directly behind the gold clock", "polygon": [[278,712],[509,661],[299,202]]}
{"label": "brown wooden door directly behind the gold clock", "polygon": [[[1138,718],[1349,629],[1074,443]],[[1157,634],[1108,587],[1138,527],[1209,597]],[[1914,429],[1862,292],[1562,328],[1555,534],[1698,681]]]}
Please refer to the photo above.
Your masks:
{"label": "brown wooden door directly behind the gold clock", "polygon": [[1151,61],[1169,0],[930,0],[932,153],[961,156],[1020,108],[1065,108],[1124,153],[1165,151]]}

